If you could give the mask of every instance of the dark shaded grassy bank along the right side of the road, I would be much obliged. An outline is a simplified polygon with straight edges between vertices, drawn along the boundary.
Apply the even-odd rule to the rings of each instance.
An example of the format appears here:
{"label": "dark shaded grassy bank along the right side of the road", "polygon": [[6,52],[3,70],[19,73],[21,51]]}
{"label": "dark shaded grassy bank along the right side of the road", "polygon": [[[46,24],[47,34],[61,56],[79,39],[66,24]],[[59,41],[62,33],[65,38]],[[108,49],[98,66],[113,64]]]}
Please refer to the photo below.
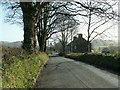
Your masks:
{"label": "dark shaded grassy bank along the right side of the road", "polygon": [[120,55],[116,54],[73,53],[67,54],[65,57],[100,66],[116,72],[119,72],[120,68]]}

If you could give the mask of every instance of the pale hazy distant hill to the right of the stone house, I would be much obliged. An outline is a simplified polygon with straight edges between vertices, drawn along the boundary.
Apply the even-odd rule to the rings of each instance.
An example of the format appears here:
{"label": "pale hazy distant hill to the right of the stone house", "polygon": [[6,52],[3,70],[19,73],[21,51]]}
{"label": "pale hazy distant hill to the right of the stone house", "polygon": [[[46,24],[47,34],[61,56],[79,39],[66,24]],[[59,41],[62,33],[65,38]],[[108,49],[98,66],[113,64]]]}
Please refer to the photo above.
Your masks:
{"label": "pale hazy distant hill to the right of the stone house", "polygon": [[117,46],[118,43],[117,41],[114,41],[114,40],[100,40],[100,39],[95,39],[92,41],[92,47],[93,48],[98,48],[98,47],[101,47],[101,46]]}

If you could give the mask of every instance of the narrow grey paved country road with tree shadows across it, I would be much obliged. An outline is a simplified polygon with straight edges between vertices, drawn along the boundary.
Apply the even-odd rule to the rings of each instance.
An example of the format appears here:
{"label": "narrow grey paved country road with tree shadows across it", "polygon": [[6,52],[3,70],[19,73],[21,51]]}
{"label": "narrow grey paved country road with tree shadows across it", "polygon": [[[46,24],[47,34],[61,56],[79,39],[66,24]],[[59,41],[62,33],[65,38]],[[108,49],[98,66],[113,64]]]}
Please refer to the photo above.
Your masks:
{"label": "narrow grey paved country road with tree shadows across it", "polygon": [[118,88],[118,75],[72,59],[52,56],[39,88]]}

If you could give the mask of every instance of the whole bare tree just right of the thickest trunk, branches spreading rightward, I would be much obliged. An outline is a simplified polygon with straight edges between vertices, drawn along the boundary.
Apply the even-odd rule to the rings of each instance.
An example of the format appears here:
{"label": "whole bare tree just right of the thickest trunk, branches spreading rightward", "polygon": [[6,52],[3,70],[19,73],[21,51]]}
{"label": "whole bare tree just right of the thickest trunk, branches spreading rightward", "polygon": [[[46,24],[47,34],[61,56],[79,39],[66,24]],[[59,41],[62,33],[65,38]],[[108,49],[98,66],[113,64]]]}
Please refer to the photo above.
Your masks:
{"label": "whole bare tree just right of the thickest trunk, branches spreading rightward", "polygon": [[[46,40],[48,40],[53,34],[63,31],[71,26],[66,24],[70,20],[76,21],[72,16],[65,16],[64,14],[59,14],[63,10],[63,6],[66,6],[66,3],[49,3],[41,10],[40,18],[38,20],[38,42],[40,51],[46,51]],[[64,12],[65,13],[65,12]],[[62,23],[64,22],[64,24]]]}

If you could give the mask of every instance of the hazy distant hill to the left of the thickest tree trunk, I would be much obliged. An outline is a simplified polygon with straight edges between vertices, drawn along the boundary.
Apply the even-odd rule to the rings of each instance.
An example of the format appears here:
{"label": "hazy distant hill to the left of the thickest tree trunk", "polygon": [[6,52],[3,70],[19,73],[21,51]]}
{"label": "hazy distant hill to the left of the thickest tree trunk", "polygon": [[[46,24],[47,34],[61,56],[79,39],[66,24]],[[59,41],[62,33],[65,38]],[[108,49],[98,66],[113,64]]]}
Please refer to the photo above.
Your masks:
{"label": "hazy distant hill to the left of the thickest tree trunk", "polygon": [[0,46],[6,46],[6,47],[21,47],[22,42],[16,41],[16,42],[7,42],[7,41],[0,41]]}

